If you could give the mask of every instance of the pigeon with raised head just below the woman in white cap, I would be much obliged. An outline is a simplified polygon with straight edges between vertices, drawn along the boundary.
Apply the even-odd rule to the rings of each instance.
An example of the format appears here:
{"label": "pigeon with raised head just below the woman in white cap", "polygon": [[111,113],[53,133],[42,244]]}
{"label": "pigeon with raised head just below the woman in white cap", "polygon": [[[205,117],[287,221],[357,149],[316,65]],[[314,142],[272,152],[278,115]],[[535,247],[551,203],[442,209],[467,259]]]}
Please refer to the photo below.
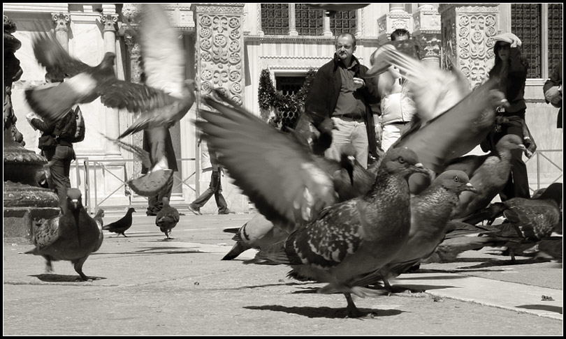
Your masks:
{"label": "pigeon with raised head just below the woman in white cap", "polygon": [[[466,169],[463,166],[458,166],[458,161],[453,161],[447,165],[447,169],[460,169],[463,172],[469,173],[470,183],[477,189],[478,193],[463,192],[460,195],[460,205],[454,213],[453,218],[466,218],[471,216],[484,207],[488,206],[491,200],[498,195],[511,172],[511,159],[514,156],[514,149],[522,149],[525,151],[525,146],[521,144],[521,138],[517,135],[505,135],[495,145],[495,150],[488,153],[486,156],[467,156],[465,163],[472,163],[473,166]],[[468,162],[466,159],[473,157],[480,157],[480,161]],[[481,160],[484,160],[481,162]],[[477,165],[481,163],[479,167]]]}

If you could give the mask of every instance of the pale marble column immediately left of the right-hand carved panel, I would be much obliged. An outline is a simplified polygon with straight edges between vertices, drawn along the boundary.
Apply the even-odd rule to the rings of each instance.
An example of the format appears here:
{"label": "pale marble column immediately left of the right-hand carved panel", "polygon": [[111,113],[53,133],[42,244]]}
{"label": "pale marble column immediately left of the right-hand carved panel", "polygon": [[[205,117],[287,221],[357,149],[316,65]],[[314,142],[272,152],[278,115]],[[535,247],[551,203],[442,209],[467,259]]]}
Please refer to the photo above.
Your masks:
{"label": "pale marble column immediately left of the right-hand carved panel", "polygon": [[441,29],[440,13],[432,3],[419,3],[413,13],[413,40],[421,47],[421,61],[432,68],[440,68]]}

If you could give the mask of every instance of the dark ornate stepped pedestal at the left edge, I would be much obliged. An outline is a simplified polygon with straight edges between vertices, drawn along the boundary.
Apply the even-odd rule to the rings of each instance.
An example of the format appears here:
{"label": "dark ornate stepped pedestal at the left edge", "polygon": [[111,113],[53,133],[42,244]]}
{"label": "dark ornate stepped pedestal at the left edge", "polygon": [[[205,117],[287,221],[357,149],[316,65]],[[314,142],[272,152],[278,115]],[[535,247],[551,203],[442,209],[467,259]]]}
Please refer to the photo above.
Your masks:
{"label": "dark ornate stepped pedestal at the left edge", "polygon": [[24,148],[22,133],[12,107],[12,83],[22,75],[15,51],[21,47],[12,33],[15,24],[3,16],[4,86],[3,86],[3,238],[31,239],[34,220],[57,216],[57,195],[40,188],[38,178],[47,160]]}

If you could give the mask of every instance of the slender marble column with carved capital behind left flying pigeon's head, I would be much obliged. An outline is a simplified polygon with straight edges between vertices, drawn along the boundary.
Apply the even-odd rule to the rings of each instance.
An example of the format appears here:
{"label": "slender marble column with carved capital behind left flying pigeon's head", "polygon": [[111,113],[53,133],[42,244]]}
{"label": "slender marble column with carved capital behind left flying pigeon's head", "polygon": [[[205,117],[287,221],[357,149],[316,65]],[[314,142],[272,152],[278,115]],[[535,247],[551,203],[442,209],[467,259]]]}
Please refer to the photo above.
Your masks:
{"label": "slender marble column with carved capital behind left flying pigeon's head", "polygon": [[[104,52],[116,54],[116,23],[118,15],[116,13],[101,13],[101,23],[103,24]],[[117,62],[117,61],[116,61]],[[116,65],[115,73],[116,73]],[[119,136],[119,110],[105,107],[106,136],[116,139]],[[120,156],[119,146],[113,142],[106,142],[107,156]]]}

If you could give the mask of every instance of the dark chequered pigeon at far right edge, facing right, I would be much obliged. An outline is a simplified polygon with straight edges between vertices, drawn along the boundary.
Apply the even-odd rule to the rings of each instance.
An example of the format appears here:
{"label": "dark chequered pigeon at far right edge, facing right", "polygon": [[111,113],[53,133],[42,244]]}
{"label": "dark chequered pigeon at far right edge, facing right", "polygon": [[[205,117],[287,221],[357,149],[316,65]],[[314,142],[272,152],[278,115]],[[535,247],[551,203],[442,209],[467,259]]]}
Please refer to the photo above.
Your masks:
{"label": "dark chequered pigeon at far right edge, facing right", "polygon": [[[440,257],[451,259],[465,250],[479,250],[484,247],[506,247],[505,253],[511,256],[511,262],[515,262],[515,255],[533,248],[539,243],[542,247],[553,248],[556,239],[551,234],[556,227],[562,223],[560,204],[563,200],[563,184],[553,183],[536,198],[514,197],[505,202],[495,202],[481,211],[479,216],[485,219],[505,216],[503,223],[499,225],[477,226],[458,223],[457,229],[470,229],[468,233],[477,233],[477,236],[465,236],[466,232],[460,232],[454,236],[452,231],[448,232],[449,241],[444,241],[440,246]],[[491,206],[498,206],[494,209]],[[493,214],[495,213],[495,214]],[[473,216],[473,222],[479,222],[477,215]],[[468,220],[472,217],[468,218]],[[551,250],[552,251],[552,250]],[[531,251],[532,252],[532,251]]]}

